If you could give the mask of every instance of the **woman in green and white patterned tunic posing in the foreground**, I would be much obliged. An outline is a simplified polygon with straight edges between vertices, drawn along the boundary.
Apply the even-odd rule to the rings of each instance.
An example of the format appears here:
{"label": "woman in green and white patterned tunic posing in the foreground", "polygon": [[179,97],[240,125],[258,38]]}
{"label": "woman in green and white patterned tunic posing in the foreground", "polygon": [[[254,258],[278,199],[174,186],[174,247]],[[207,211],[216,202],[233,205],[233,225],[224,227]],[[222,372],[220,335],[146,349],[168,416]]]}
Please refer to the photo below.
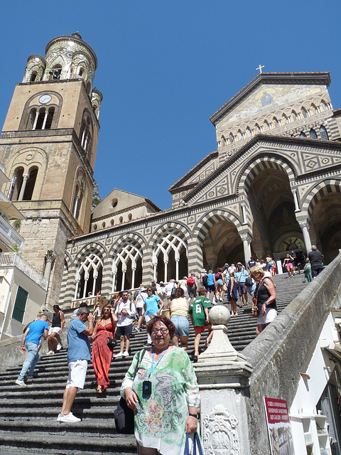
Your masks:
{"label": "woman in green and white patterned tunic posing in the foreground", "polygon": [[136,353],[121,385],[126,404],[136,411],[137,453],[183,455],[185,432],[197,431],[197,379],[187,353],[170,344],[175,327],[168,318],[154,316],[147,331],[153,346],[144,351],[134,378]]}

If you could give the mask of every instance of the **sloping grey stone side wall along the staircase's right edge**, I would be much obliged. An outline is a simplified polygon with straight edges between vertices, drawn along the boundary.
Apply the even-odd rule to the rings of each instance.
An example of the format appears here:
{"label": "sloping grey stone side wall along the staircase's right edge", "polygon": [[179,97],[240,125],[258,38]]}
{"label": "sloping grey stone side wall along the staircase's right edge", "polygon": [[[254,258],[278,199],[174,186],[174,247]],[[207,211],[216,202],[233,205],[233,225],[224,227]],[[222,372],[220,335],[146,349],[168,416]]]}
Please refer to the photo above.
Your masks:
{"label": "sloping grey stone side wall along the staircase's right edge", "polygon": [[291,407],[300,372],[308,367],[330,308],[340,307],[340,259],[338,255],[266,331],[242,351],[253,368],[247,402],[252,455],[271,454],[264,397],[286,400]]}

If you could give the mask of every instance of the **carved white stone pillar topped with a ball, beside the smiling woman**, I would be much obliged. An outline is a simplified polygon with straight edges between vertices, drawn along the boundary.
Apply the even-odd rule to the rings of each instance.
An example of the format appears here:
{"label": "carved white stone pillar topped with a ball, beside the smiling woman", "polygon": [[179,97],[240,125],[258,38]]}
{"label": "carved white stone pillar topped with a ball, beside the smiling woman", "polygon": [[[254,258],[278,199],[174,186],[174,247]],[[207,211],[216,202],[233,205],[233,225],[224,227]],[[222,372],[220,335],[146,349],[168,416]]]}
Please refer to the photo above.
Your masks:
{"label": "carved white stone pillar topped with a ball, beside the smiling woman", "polygon": [[194,365],[206,455],[250,455],[247,400],[252,367],[229,342],[230,317],[222,305],[210,310],[212,341]]}

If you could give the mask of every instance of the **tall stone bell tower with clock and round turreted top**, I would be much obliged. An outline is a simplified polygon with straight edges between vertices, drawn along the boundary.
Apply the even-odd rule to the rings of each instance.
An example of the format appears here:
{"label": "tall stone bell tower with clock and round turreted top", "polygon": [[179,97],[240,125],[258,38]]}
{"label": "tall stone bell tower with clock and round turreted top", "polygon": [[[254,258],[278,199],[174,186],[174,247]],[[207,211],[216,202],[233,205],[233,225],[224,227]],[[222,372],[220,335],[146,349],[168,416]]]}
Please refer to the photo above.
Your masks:
{"label": "tall stone bell tower with clock and round turreted top", "polygon": [[28,58],[0,137],[2,188],[25,215],[23,258],[50,279],[58,302],[66,241],[89,230],[102,93],[97,57],[79,33],[54,38]]}

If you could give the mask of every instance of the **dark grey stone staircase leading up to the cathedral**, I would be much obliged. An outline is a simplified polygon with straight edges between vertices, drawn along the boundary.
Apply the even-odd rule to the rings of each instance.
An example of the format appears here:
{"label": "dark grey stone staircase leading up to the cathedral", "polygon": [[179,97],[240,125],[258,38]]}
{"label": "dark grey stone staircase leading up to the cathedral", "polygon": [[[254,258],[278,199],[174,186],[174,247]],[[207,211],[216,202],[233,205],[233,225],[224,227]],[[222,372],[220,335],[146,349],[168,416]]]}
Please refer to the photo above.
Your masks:
{"label": "dark grey stone staircase leading up to the cathedral", "polygon": [[[292,279],[276,277],[278,309],[281,311],[308,284],[303,275]],[[227,305],[227,303],[224,303]],[[229,308],[229,305],[227,305]],[[239,309],[228,325],[229,339],[237,350],[243,350],[256,336],[256,318],[251,317],[251,305]],[[206,336],[202,337],[201,346]],[[57,415],[63,401],[67,379],[67,353],[42,355],[36,366],[33,380],[26,387],[14,385],[21,369],[8,368],[0,376],[0,454],[13,452],[45,454],[136,454],[135,439],[131,435],[117,434],[113,412],[119,401],[119,389],[132,355],[146,341],[146,333],[135,332],[131,339],[131,355],[122,360],[112,360],[109,371],[110,387],[107,393],[96,393],[92,364],[87,370],[84,390],[78,392],[72,412],[82,417],[79,423],[59,423]],[[194,331],[191,328],[188,354],[193,353]],[[114,353],[117,348],[114,349]],[[11,451],[11,452],[10,452]]]}

